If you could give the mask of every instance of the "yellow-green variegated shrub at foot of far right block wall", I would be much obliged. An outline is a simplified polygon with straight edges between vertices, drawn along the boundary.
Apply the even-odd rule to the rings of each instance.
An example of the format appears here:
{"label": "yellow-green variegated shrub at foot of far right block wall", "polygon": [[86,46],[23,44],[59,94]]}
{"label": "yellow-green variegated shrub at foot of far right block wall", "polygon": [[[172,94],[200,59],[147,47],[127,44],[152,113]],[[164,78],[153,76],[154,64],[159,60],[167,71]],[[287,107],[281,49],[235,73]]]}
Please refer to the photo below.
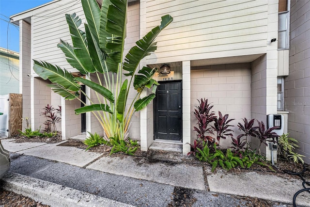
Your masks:
{"label": "yellow-green variegated shrub at foot of far right block wall", "polygon": [[298,141],[295,140],[292,137],[289,137],[289,133],[282,134],[279,136],[278,144],[279,144],[279,150],[278,153],[281,157],[290,160],[292,159],[294,163],[301,162],[304,163],[304,160],[302,159],[303,155],[300,155],[298,153],[295,153],[294,150],[298,146]]}

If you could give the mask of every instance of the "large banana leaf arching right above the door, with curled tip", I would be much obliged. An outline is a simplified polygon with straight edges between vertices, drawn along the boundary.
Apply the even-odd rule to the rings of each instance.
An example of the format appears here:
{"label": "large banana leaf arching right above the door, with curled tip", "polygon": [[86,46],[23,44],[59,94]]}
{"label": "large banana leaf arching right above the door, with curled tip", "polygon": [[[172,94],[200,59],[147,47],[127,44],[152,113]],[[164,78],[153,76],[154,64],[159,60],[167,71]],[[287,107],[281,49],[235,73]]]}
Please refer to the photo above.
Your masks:
{"label": "large banana leaf arching right above the door, with curled tip", "polygon": [[172,22],[172,20],[173,18],[170,15],[162,16],[160,25],[155,27],[151,32],[148,32],[142,39],[136,42],[137,46],[134,46],[129,50],[125,56],[125,62],[123,66],[123,69],[128,71],[128,73],[124,74],[125,76],[132,76],[135,74],[140,61],[145,56],[155,51],[155,38],[159,32],[161,32]]}

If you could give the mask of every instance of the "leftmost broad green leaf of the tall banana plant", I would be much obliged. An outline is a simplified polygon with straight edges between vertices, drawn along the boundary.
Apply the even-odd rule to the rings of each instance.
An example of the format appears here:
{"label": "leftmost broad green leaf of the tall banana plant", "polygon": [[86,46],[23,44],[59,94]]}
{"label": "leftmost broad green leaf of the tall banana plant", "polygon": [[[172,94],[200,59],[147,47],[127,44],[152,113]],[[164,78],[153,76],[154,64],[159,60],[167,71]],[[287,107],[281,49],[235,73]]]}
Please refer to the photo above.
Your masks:
{"label": "leftmost broad green leaf of the tall banana plant", "polygon": [[57,83],[68,91],[77,92],[80,89],[80,85],[78,85],[74,76],[67,70],[47,62],[33,61],[33,70],[44,80],[48,79],[52,83]]}

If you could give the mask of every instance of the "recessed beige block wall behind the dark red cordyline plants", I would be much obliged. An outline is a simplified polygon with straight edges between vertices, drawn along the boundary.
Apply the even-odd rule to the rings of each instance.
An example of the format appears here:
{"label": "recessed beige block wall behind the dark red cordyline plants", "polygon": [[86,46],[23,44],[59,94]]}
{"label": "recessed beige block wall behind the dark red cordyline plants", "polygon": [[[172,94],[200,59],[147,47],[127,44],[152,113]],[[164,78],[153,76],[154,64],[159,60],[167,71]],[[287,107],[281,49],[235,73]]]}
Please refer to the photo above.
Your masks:
{"label": "recessed beige block wall behind the dark red cordyline plants", "polygon": [[[233,135],[239,133],[238,122],[243,123],[242,118],[251,117],[251,69],[250,64],[224,64],[206,66],[204,70],[192,70],[191,78],[191,111],[199,104],[197,99],[207,98],[208,103],[218,111],[229,114]],[[191,113],[191,129],[196,126],[197,120]],[[196,132],[191,131],[191,138],[196,138]],[[222,146],[231,146],[231,139],[221,140]]]}

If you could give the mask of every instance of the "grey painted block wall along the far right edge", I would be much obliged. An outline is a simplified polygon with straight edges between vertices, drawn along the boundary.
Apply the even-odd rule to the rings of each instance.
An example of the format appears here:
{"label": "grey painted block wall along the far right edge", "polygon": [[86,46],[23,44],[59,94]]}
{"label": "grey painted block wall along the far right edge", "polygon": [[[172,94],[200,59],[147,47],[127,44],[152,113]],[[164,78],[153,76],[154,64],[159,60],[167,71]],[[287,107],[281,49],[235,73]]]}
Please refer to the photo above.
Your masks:
{"label": "grey painted block wall along the far right edge", "polygon": [[290,74],[285,79],[288,132],[310,163],[310,1],[291,1]]}

